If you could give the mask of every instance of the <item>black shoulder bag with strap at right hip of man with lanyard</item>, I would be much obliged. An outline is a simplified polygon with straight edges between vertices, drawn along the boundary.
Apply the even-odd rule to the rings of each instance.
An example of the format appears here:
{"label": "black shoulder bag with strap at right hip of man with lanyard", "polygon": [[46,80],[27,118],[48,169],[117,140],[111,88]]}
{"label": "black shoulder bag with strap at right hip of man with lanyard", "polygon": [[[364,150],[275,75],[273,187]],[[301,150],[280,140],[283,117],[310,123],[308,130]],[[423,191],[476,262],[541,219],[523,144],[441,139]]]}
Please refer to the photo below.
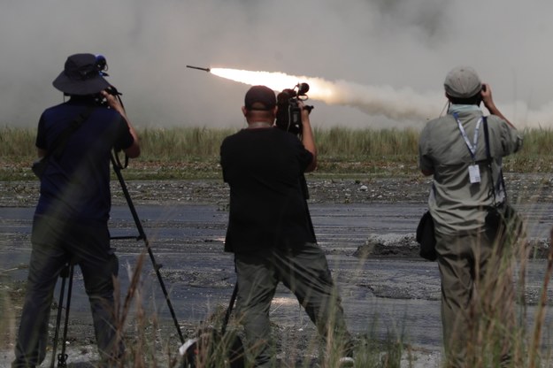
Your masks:
{"label": "black shoulder bag with strap at right hip of man with lanyard", "polygon": [[516,239],[522,234],[523,220],[518,215],[515,208],[507,201],[507,190],[505,188],[505,180],[503,179],[503,169],[499,168],[499,182],[498,188],[503,188],[504,200],[497,203],[495,196],[495,182],[494,173],[492,170],[492,156],[489,149],[489,133],[488,133],[488,119],[484,119],[484,137],[486,139],[486,155],[488,157],[488,168],[491,178],[490,192],[494,197],[494,203],[488,207],[485,226],[488,239],[495,240],[500,239],[501,242],[508,239]]}

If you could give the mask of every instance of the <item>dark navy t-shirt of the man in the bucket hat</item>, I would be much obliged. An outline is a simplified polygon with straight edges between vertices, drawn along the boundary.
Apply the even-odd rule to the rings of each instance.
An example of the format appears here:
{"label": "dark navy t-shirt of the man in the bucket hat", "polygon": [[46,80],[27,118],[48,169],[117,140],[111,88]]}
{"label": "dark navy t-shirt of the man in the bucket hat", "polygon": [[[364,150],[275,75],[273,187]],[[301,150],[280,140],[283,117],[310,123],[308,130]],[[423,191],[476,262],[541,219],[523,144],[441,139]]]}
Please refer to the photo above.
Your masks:
{"label": "dark navy t-shirt of the man in the bucket hat", "polygon": [[[90,109],[91,103],[94,101],[72,99],[42,112],[36,147],[53,151],[58,135],[82,111]],[[111,208],[111,149],[127,149],[133,142],[119,112],[96,107],[69,135],[60,157],[50,157],[35,213],[80,223],[105,223]]]}

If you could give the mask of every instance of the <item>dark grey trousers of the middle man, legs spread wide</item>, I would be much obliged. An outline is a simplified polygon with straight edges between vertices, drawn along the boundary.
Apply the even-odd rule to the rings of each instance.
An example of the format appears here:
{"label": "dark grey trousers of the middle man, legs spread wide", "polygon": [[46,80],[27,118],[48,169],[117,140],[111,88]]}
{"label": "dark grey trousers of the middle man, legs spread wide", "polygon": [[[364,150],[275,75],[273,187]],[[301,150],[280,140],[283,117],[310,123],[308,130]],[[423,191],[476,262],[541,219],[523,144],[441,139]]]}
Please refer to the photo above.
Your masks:
{"label": "dark grey trousers of the middle man, legs spread wide", "polygon": [[342,301],[319,245],[236,254],[234,261],[238,318],[256,367],[272,366],[269,310],[279,282],[296,295],[323,338],[351,348]]}

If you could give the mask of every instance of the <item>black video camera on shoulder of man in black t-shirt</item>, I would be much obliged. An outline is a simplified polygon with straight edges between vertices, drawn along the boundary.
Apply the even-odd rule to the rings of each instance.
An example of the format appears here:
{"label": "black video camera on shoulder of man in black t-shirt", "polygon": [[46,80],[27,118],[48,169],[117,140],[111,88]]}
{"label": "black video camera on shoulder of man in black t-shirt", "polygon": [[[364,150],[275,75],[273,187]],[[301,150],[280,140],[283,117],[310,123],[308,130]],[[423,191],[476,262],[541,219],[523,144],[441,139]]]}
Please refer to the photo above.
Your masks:
{"label": "black video camera on shoulder of man in black t-shirt", "polygon": [[[302,134],[302,108],[298,101],[306,101],[308,91],[309,84],[298,83],[294,88],[283,89],[277,95],[279,110],[276,116],[276,126],[292,134]],[[303,109],[311,112],[313,106],[304,105]]]}

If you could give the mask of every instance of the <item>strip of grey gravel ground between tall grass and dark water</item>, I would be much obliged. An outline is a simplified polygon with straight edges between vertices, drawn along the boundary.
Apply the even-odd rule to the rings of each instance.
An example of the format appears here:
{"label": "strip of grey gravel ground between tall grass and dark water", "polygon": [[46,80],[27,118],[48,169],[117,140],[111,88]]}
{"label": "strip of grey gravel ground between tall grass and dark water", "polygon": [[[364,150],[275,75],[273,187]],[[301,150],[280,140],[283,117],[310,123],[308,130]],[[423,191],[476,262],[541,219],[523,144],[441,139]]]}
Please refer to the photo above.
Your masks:
{"label": "strip of grey gravel ground between tall grass and dark water", "polygon": [[[310,203],[426,203],[431,180],[422,175],[401,178],[312,179]],[[553,203],[553,175],[505,174],[512,203]],[[34,206],[38,181],[0,181],[0,207]],[[209,203],[227,205],[222,180],[133,180],[126,182],[135,204]],[[111,181],[113,203],[125,203],[119,181]]]}

